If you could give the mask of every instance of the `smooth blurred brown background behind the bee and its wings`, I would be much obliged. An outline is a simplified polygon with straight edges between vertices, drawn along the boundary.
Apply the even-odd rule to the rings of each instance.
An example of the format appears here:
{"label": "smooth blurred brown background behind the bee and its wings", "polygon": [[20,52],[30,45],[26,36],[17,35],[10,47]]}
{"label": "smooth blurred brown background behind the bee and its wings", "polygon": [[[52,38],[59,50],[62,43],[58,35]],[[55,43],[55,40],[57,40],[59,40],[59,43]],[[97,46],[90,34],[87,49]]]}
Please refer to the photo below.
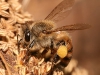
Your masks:
{"label": "smooth blurred brown background behind the bee and its wings", "polygon": [[[25,11],[35,20],[44,19],[62,0],[20,0]],[[78,65],[88,70],[89,75],[100,75],[100,0],[76,0],[72,11],[59,26],[86,23],[92,27],[71,32],[74,52]]]}

